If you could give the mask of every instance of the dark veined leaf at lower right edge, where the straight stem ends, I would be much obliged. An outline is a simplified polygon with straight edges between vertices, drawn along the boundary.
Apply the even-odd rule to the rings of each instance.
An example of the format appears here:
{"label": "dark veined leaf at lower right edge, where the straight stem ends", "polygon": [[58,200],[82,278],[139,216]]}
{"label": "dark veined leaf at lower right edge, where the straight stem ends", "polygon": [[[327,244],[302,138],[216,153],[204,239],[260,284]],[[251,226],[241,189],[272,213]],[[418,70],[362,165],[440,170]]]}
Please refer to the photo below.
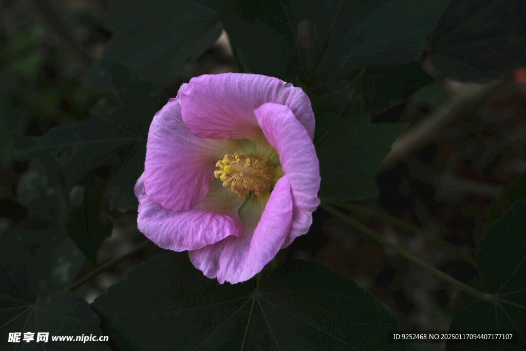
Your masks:
{"label": "dark veined leaf at lower right edge, where the straight stem ends", "polygon": [[[517,349],[526,348],[526,200],[515,203],[494,222],[477,252],[484,285],[495,295],[493,302],[478,302],[453,317],[450,330],[514,330]],[[488,345],[476,349],[509,349]],[[507,345],[509,347],[509,345]],[[451,345],[448,349],[454,349]]]}

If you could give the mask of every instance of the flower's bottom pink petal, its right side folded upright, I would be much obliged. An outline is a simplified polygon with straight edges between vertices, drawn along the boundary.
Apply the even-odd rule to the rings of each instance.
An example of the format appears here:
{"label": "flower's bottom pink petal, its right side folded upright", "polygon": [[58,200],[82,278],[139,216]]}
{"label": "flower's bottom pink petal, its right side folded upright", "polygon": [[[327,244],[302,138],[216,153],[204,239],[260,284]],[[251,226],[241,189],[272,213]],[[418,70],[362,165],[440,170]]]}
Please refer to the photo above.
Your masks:
{"label": "flower's bottom pink petal, its right side folded upright", "polygon": [[[256,210],[255,212],[258,212]],[[256,275],[277,254],[289,233],[292,217],[290,183],[282,177],[265,206],[254,230],[240,237],[189,252],[194,266],[220,284],[244,282]]]}

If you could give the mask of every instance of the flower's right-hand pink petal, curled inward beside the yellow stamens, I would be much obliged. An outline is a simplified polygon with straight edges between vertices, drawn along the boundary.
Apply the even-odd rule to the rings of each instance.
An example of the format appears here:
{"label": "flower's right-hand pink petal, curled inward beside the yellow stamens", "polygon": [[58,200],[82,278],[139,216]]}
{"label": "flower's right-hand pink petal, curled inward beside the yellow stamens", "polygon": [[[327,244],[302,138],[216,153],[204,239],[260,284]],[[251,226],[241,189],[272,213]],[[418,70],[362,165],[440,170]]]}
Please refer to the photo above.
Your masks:
{"label": "flower's right-hand pink petal, curled inward beside the yellow stamens", "polygon": [[320,204],[320,169],[316,150],[305,127],[285,105],[267,103],[255,111],[259,126],[272,147],[279,154],[283,172],[290,182],[292,224],[290,234],[282,247],[297,236],[308,232],[312,212]]}

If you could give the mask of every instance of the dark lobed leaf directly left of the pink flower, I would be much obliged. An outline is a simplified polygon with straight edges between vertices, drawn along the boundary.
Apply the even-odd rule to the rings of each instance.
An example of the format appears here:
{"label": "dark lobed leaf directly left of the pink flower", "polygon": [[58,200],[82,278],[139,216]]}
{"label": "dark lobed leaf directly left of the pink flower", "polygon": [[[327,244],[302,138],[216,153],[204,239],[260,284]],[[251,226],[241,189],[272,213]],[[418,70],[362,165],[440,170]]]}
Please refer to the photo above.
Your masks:
{"label": "dark lobed leaf directly left of the pink flower", "polygon": [[[57,126],[42,137],[19,138],[15,143],[18,158],[37,158],[61,180],[65,198],[71,202],[62,223],[92,262],[112,228],[102,215],[106,189],[112,188],[120,198],[118,206],[112,201],[113,207],[137,205],[133,185],[143,170],[148,127],[159,108],[155,87],[126,67],[112,66],[112,79],[122,102],[113,112],[94,112],[80,123]],[[113,183],[111,177],[107,179],[109,174],[98,172],[109,158],[116,158],[113,163],[124,171],[112,173]]]}

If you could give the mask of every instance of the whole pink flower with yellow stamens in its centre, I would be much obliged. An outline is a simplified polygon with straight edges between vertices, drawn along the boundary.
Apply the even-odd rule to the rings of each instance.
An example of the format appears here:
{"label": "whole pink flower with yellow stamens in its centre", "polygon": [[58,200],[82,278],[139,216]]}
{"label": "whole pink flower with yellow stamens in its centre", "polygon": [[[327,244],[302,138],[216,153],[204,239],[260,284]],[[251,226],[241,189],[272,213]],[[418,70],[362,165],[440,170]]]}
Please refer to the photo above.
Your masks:
{"label": "whole pink flower with yellow stamens in its centre", "polygon": [[314,124],[307,95],[278,78],[192,78],[151,122],[139,230],[221,284],[248,280],[312,223]]}

